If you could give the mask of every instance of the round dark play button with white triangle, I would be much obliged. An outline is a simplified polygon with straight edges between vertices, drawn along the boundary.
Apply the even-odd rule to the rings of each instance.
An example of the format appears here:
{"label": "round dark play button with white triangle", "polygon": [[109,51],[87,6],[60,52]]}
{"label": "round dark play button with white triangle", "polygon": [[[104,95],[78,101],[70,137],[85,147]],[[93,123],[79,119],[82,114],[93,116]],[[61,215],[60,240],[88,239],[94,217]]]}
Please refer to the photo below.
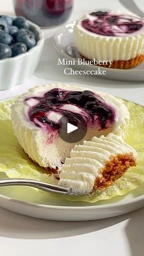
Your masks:
{"label": "round dark play button with white triangle", "polygon": [[87,123],[79,121],[75,123],[71,122],[68,117],[63,115],[59,120],[59,136],[60,138],[68,143],[76,143],[81,141],[87,133]]}

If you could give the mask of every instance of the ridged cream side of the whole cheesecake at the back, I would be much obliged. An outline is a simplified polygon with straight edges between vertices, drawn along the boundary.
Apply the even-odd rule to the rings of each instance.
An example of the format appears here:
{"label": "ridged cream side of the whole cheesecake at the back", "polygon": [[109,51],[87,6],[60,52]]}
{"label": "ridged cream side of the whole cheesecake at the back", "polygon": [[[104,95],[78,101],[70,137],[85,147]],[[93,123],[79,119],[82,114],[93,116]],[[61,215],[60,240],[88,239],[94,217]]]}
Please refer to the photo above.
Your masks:
{"label": "ridged cream side of the whole cheesecake at the back", "polygon": [[144,30],[139,33],[128,37],[109,37],[87,31],[81,20],[74,26],[77,50],[87,59],[96,60],[130,60],[143,55]]}

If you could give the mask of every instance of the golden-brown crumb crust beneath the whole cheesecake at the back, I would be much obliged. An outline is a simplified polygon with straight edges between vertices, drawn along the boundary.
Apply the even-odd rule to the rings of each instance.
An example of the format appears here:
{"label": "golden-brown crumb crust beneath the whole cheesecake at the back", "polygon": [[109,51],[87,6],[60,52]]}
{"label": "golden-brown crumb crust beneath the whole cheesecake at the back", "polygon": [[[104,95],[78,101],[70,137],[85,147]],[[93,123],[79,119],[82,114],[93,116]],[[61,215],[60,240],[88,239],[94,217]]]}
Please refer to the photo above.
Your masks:
{"label": "golden-brown crumb crust beneath the whole cheesecake at the back", "polygon": [[[81,54],[82,59],[85,60],[92,60],[92,59],[87,59],[87,57],[83,56]],[[129,68],[134,68],[140,63],[144,61],[144,55],[140,55],[135,57],[134,59],[129,59],[129,60],[113,60],[112,65],[109,67],[109,64],[107,65],[96,65],[98,67],[106,67],[106,68],[117,68],[117,69],[129,69]]]}

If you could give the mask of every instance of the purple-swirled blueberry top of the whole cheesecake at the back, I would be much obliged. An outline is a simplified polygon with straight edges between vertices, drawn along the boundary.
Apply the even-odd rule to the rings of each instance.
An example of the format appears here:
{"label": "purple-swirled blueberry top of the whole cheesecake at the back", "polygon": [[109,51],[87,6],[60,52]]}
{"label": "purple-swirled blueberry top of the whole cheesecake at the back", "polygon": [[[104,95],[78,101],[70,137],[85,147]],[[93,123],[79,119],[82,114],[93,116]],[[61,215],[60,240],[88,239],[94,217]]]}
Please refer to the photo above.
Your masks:
{"label": "purple-swirled blueberry top of the whole cheesecake at the back", "polygon": [[143,18],[109,12],[92,12],[82,20],[82,27],[100,35],[127,37],[139,32],[144,24]]}

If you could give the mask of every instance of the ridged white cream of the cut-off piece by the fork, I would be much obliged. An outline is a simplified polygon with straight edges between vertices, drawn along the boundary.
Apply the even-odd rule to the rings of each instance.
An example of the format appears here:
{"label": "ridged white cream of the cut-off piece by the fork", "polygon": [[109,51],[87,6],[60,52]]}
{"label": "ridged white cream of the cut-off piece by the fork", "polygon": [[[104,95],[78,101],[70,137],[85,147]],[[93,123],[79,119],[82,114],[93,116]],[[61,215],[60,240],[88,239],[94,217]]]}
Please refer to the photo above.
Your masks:
{"label": "ridged white cream of the cut-off piece by the fork", "polygon": [[101,170],[110,156],[125,153],[133,153],[137,158],[134,148],[112,133],[106,137],[93,137],[92,141],[84,141],[83,145],[76,145],[70,158],[65,160],[60,172],[59,186],[89,193],[96,179],[102,177]]}

